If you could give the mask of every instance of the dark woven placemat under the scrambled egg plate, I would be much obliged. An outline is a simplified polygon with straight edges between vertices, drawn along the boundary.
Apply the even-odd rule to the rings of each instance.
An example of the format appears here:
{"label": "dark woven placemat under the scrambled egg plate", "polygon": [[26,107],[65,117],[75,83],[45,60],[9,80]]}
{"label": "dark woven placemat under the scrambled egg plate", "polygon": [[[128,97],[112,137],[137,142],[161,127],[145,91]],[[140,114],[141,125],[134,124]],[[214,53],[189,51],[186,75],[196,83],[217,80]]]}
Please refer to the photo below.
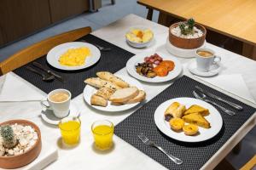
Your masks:
{"label": "dark woven placemat under the scrambled egg plate", "polygon": [[109,52],[101,52],[101,59],[96,63],[96,65],[92,65],[89,68],[79,71],[61,71],[55,69],[47,63],[46,55],[34,60],[63,77],[66,80],[65,83],[59,82],[58,80],[54,80],[53,82],[42,81],[41,77],[26,69],[27,65],[32,66],[32,62],[16,69],[14,71],[15,74],[24,78],[27,82],[31,82],[34,86],[40,88],[46,94],[56,88],[66,88],[72,93],[72,97],[74,98],[83,93],[85,86],[84,79],[88,77],[96,77],[97,71],[119,71],[125,67],[127,60],[134,55],[123,48],[119,48],[110,42],[106,42],[101,38],[90,34],[80,39],[83,39],[86,42],[96,43],[102,47],[112,48],[112,50]]}

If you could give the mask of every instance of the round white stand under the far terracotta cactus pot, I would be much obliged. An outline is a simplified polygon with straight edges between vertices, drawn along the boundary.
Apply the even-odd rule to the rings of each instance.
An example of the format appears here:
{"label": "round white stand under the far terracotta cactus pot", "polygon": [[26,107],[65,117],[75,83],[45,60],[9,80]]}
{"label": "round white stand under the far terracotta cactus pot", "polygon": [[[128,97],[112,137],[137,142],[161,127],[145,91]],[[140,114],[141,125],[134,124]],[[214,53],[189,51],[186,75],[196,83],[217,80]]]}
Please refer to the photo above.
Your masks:
{"label": "round white stand under the far terracotta cactus pot", "polygon": [[[206,41],[204,42],[204,44],[202,44],[202,46],[200,48],[204,48],[206,46]],[[172,45],[171,42],[169,42],[169,39],[166,39],[166,50],[170,53],[173,54],[177,57],[181,57],[181,58],[193,58],[195,57],[195,51],[198,48],[194,48],[194,49],[183,49],[183,48],[177,48],[175,46]]]}

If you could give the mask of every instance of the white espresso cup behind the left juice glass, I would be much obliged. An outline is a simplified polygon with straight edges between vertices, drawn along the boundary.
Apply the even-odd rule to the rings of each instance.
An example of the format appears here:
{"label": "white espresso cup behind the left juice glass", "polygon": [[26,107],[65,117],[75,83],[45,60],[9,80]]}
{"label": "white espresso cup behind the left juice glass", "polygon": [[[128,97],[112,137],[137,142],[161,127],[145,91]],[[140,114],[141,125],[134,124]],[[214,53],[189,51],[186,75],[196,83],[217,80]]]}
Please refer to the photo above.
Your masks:
{"label": "white espresso cup behind the left juice glass", "polygon": [[[47,95],[47,100],[41,101],[41,105],[52,110],[56,117],[63,118],[68,115],[71,93],[66,89],[55,89]],[[46,105],[45,103],[48,103]]]}

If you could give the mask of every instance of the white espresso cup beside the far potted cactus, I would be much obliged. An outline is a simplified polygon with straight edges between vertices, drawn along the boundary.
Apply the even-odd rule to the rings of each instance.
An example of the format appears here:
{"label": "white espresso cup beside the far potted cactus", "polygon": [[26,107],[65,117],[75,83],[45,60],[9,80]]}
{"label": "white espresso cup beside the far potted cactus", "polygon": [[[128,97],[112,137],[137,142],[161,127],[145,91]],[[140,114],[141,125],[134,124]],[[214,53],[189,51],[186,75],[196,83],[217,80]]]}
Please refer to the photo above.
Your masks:
{"label": "white espresso cup beside the far potted cactus", "polygon": [[212,49],[199,48],[195,51],[196,65],[198,71],[210,71],[212,65],[218,65],[221,57],[217,56]]}

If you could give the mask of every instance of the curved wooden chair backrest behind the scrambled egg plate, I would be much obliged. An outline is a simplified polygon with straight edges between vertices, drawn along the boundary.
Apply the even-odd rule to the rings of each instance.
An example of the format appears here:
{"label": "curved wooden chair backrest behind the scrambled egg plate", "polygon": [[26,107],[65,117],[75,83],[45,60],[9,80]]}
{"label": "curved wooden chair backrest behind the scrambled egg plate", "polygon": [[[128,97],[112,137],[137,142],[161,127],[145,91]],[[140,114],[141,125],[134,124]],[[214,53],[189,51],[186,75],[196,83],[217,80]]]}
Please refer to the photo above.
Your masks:
{"label": "curved wooden chair backrest behind the scrambled egg plate", "polygon": [[47,54],[51,48],[54,48],[61,43],[73,42],[80,37],[84,37],[90,32],[90,26],[79,28],[77,30],[61,33],[55,37],[49,37],[41,42],[33,44],[32,46],[24,48],[10,56],[9,59],[5,59],[0,63],[0,76],[8,73],[9,71],[13,71],[22,65],[26,65],[34,59],[42,57]]}

